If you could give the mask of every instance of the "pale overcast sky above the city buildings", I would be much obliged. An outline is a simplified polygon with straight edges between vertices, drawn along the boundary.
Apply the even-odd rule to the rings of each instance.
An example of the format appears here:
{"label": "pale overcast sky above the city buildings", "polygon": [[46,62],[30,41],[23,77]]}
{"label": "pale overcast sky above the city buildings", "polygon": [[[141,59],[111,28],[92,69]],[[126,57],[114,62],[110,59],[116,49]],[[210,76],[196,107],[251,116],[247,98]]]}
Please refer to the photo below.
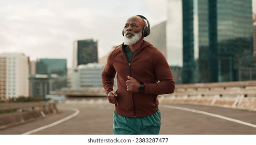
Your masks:
{"label": "pale overcast sky above the city buildings", "polygon": [[22,52],[32,60],[68,59],[68,67],[75,40],[98,40],[102,57],[123,42],[122,30],[130,16],[143,15],[151,26],[167,18],[167,0],[0,2],[0,53]]}

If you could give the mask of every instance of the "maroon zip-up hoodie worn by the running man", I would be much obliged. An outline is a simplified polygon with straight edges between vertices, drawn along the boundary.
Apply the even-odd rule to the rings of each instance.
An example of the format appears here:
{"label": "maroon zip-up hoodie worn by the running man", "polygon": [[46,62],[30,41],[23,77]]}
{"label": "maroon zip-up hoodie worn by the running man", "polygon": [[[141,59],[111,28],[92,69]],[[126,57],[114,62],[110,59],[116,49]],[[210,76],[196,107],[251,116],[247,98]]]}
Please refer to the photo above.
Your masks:
{"label": "maroon zip-up hoodie worn by the running man", "polygon": [[[125,117],[145,117],[158,110],[159,94],[173,93],[174,79],[164,55],[150,42],[143,41],[142,46],[128,62],[120,45],[113,50],[102,71],[102,84],[106,94],[113,91],[114,77],[117,79],[117,104],[115,111]],[[145,92],[128,92],[126,81],[131,76],[144,83]]]}

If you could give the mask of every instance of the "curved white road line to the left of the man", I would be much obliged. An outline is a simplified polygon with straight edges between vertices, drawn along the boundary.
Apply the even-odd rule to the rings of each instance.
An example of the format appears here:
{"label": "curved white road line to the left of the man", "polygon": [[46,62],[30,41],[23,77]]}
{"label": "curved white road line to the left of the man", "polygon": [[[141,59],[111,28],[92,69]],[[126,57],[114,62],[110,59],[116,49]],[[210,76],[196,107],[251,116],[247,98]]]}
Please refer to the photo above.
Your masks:
{"label": "curved white road line to the left of the man", "polygon": [[76,109],[76,108],[70,108],[70,107],[63,107],[63,108],[68,109],[68,110],[74,110],[75,113],[73,113],[72,115],[69,115],[68,117],[63,118],[63,119],[61,119],[61,120],[59,120],[59,121],[56,121],[56,122],[53,122],[53,123],[51,123],[51,124],[49,124],[49,125],[45,125],[45,126],[42,126],[42,127],[37,128],[37,129],[31,130],[31,131],[26,132],[26,133],[24,133],[24,134],[22,134],[22,135],[29,135],[29,134],[38,132],[38,131],[40,131],[40,130],[43,130],[43,129],[46,129],[46,128],[55,126],[55,125],[60,124],[60,123],[62,123],[62,122],[64,122],[64,121],[67,121],[67,120],[69,120],[69,119],[72,119],[73,117],[75,117],[76,115],[78,115],[78,114],[80,113],[80,111],[79,111],[78,109]]}

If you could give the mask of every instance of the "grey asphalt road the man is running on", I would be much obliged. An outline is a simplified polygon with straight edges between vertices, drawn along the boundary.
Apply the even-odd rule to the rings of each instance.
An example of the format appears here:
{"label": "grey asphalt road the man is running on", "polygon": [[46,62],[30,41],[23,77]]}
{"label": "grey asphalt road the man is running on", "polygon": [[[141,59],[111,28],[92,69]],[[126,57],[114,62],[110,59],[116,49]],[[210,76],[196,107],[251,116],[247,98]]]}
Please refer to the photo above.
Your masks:
{"label": "grey asphalt road the man is running on", "polygon": [[[68,103],[68,104],[67,104]],[[59,113],[0,130],[1,135],[109,135],[114,105],[105,98],[58,104]],[[256,135],[256,111],[160,104],[162,135]]]}

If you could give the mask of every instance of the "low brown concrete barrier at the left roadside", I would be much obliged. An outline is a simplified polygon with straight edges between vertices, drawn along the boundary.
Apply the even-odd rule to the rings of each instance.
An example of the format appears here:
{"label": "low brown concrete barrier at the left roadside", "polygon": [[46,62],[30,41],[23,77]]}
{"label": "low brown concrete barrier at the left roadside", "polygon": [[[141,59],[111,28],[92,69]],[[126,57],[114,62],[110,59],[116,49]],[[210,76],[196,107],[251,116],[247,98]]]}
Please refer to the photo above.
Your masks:
{"label": "low brown concrete barrier at the left roadside", "polygon": [[31,103],[5,103],[0,104],[0,110],[11,110],[10,113],[0,114],[0,129],[18,125],[49,114],[57,113],[56,103],[53,101],[39,101]]}

